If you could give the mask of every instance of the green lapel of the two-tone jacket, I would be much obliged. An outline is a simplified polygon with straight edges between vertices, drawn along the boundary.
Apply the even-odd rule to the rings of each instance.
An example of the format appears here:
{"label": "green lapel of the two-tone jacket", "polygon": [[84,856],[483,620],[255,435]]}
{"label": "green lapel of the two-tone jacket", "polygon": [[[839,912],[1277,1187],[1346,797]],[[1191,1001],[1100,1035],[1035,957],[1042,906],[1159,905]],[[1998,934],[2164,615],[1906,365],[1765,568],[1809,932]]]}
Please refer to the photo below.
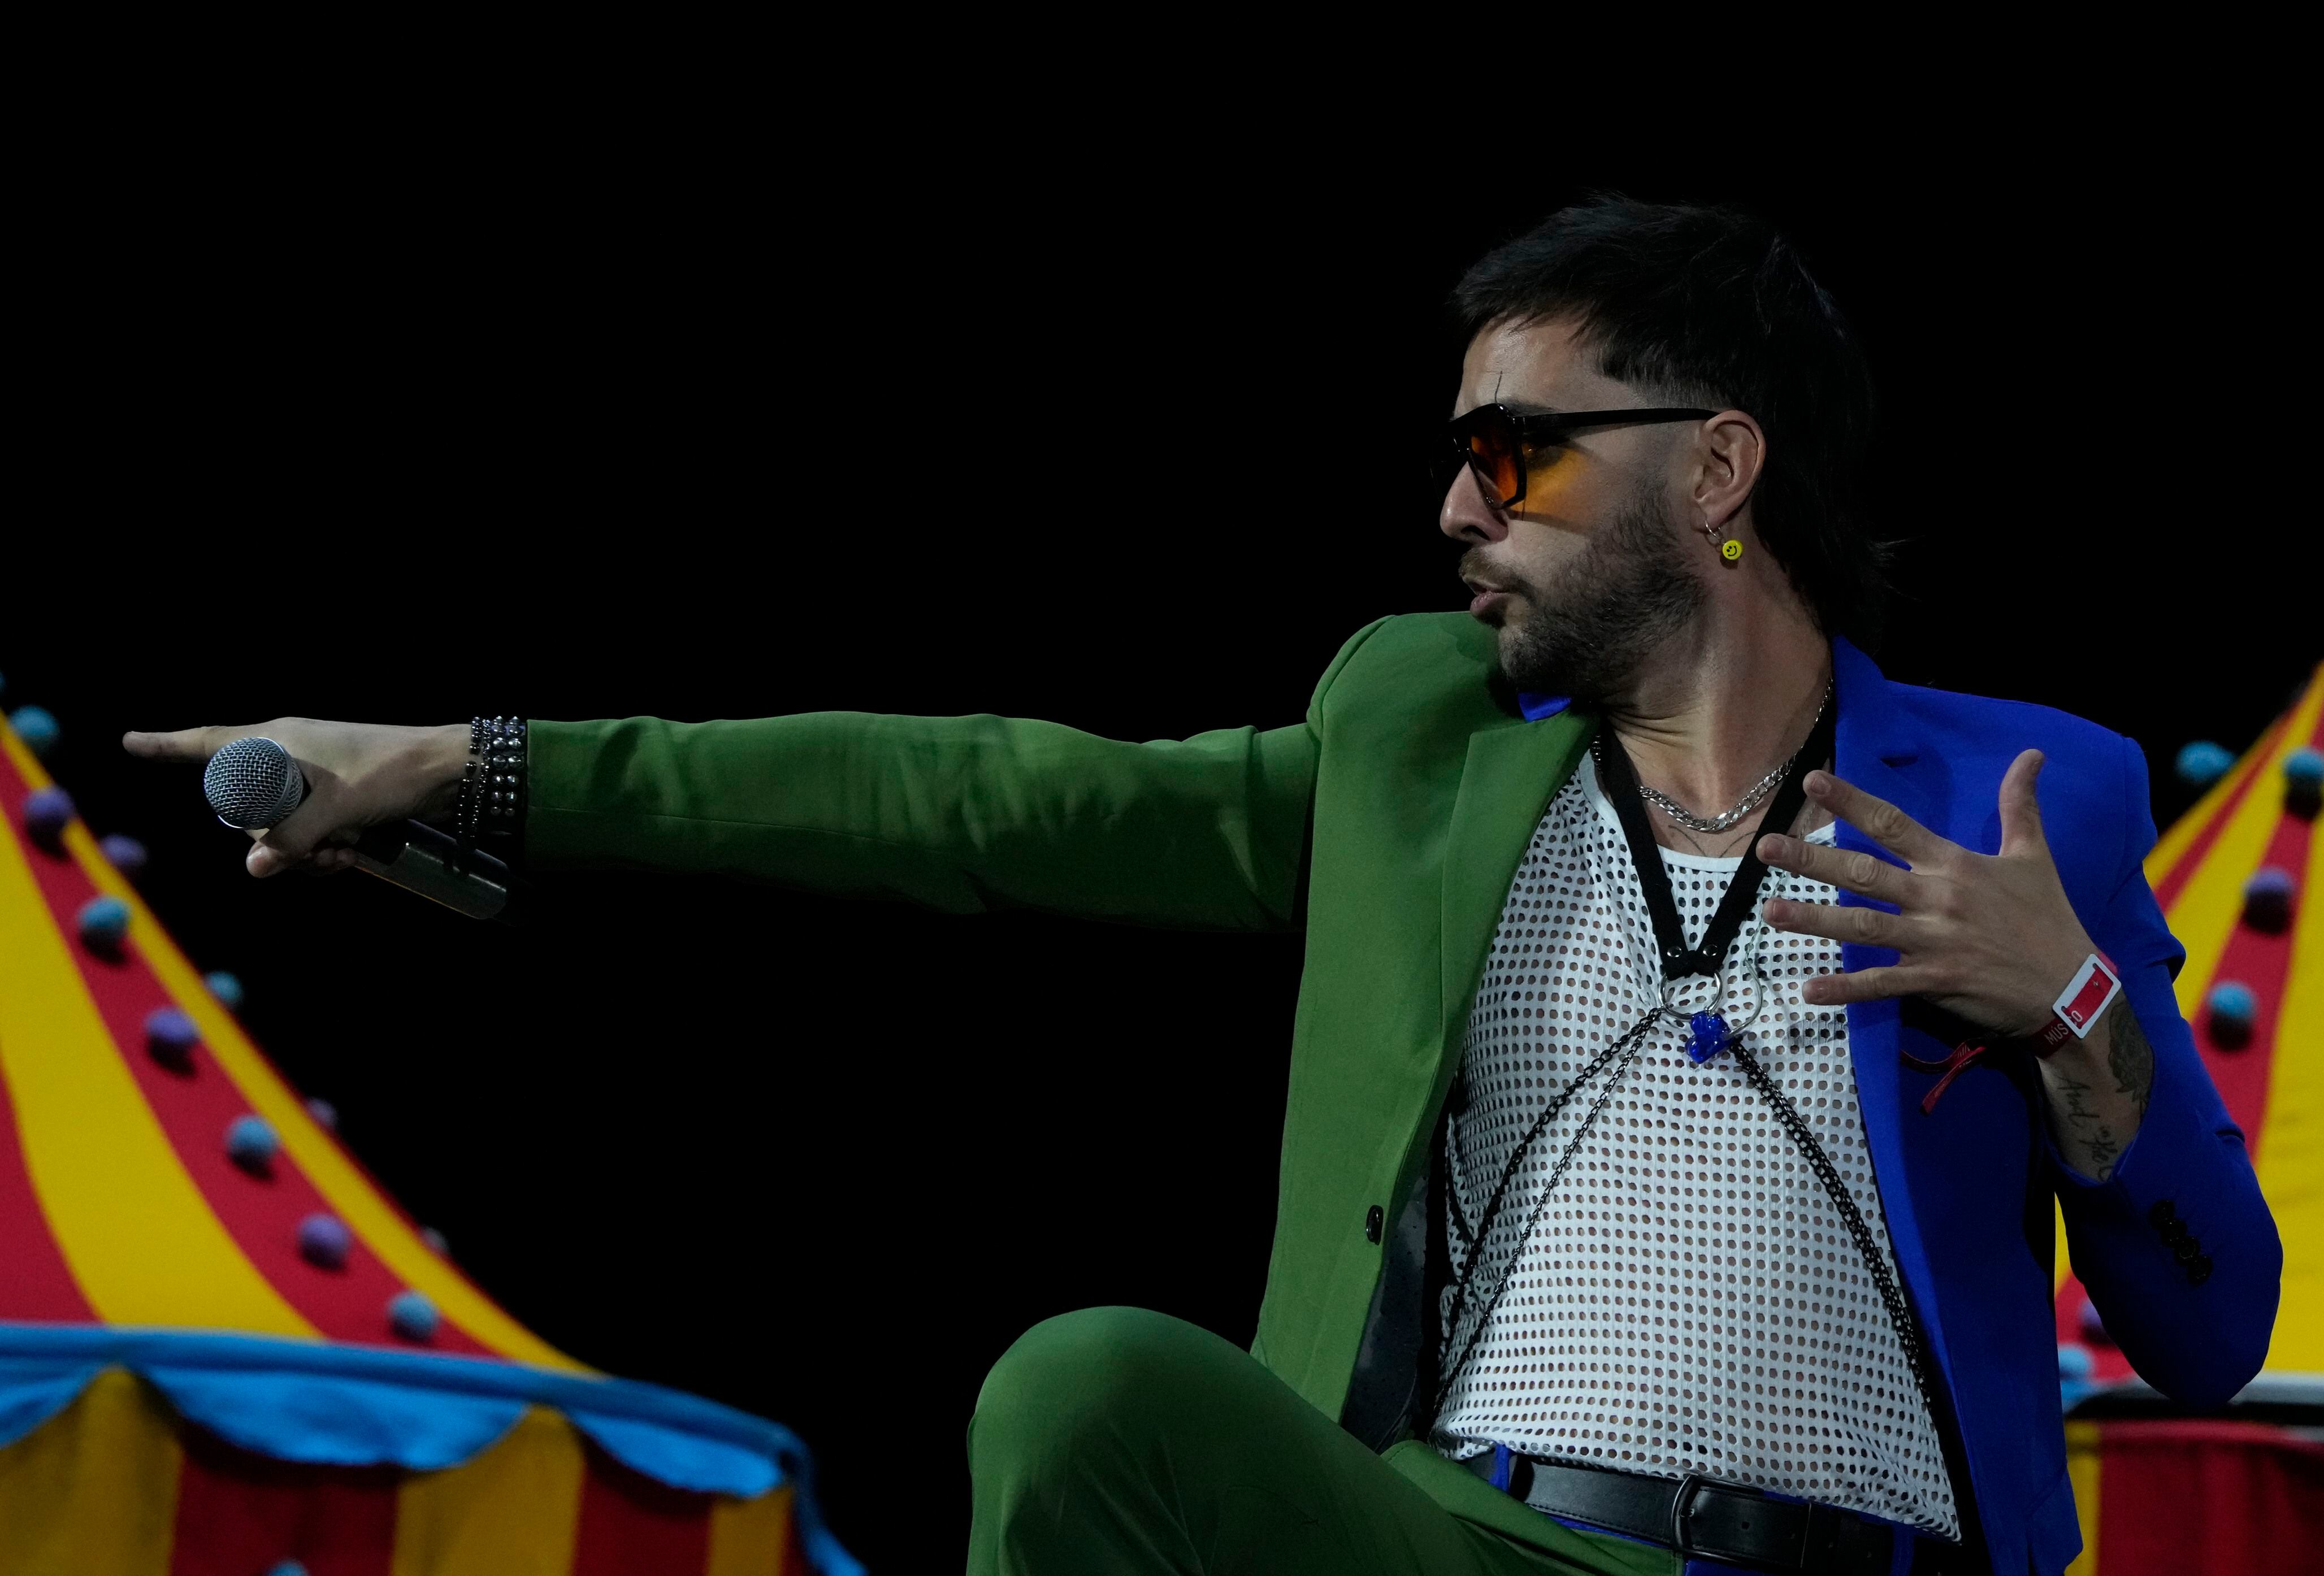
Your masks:
{"label": "green lapel of the two-tone jacket", "polygon": [[[1446,1046],[1485,972],[1508,883],[1548,809],[1566,786],[1597,718],[1562,711],[1541,723],[1499,723],[1469,735],[1452,825],[1446,832],[1443,932],[1439,951]],[[1450,1060],[1450,1058],[1448,1058]]]}

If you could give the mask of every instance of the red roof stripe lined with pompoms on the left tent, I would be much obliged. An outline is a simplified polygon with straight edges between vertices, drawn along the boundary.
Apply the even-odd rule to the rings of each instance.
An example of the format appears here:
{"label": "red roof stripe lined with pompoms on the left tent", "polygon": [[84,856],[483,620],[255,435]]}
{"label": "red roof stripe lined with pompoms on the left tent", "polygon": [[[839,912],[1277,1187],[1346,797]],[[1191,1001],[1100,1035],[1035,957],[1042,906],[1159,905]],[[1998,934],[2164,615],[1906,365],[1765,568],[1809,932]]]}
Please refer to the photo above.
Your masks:
{"label": "red roof stripe lined with pompoms on the left tent", "polygon": [[[21,779],[0,767],[0,788],[12,797],[7,809],[16,816],[16,802],[23,797]],[[388,1299],[404,1290],[404,1283],[379,1262],[360,1237],[342,1269],[318,1269],[300,1258],[300,1220],[311,1213],[330,1213],[330,1204],[307,1174],[284,1153],[274,1155],[267,1176],[251,1176],[228,1160],[225,1130],[237,1116],[246,1116],[249,1106],[232,1079],[211,1060],[209,1048],[195,1048],[186,1072],[170,1072],[146,1053],[146,1013],[170,1007],[170,993],[137,953],[135,939],[123,946],[119,958],[100,958],[81,944],[77,925],[81,904],[100,895],[88,872],[70,855],[40,851],[33,851],[30,867],[121,1060],[160,1120],[170,1148],[177,1151],[179,1162],[235,1246],[325,1337],[402,1346],[388,1330]],[[472,1357],[497,1355],[451,1318],[437,1325],[430,1346]]]}

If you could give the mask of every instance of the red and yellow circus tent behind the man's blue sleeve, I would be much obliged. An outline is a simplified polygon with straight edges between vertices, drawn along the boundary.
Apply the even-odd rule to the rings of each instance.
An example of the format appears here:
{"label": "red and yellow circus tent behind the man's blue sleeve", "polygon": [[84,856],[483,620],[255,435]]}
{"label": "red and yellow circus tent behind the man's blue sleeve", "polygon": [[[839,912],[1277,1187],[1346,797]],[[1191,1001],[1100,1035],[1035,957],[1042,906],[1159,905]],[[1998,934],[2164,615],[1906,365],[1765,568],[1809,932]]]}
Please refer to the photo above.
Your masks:
{"label": "red and yellow circus tent behind the man's blue sleeve", "polygon": [[[2182,760],[2205,774],[2212,748],[2189,746]],[[2284,1239],[2284,1292],[2259,1378],[2224,1413],[2187,1416],[2131,1374],[2059,1253],[2059,1376],[2082,1520],[2071,1576],[2298,1569],[2324,1534],[2319,751],[2324,669],[2147,855],[2147,883],[2187,946],[2180,1011]]]}

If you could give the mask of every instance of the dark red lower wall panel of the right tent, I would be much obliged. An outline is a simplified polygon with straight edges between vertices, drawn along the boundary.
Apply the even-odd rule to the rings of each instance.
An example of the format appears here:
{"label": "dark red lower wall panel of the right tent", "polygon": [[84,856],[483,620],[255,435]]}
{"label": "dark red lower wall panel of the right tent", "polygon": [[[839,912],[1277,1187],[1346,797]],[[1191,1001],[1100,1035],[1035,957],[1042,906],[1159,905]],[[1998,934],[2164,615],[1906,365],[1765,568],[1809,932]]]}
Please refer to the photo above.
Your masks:
{"label": "dark red lower wall panel of the right tent", "polygon": [[2303,1571],[2324,1527],[2324,1446],[2259,1423],[2099,1425],[2106,1576]]}

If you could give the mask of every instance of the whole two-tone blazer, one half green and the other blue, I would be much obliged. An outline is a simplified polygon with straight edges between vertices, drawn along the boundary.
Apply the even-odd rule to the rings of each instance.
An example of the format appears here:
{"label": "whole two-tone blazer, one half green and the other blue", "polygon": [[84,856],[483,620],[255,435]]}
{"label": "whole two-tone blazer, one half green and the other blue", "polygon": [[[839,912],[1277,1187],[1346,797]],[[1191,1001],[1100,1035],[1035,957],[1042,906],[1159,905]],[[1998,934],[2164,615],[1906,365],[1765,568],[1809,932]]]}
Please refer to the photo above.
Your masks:
{"label": "whole two-tone blazer, one half green and the other blue", "polygon": [[[1966,848],[1999,846],[2015,753],[2047,753],[2059,881],[2154,1044],[2152,1104],[2099,1183],[2054,1155],[2020,1058],[1982,1058],[1934,1102],[1924,1067],[1948,1051],[1931,1037],[1943,1025],[1915,1023],[1908,1002],[1848,1009],[1954,1488],[1994,1569],[2057,1571],[2080,1532],[2050,1199],[2108,1334],[2196,1409],[2259,1369],[2282,1246],[2173,1000],[2182,953],[2140,872],[2154,825],[2138,746],[2043,707],[1889,683],[1845,639],[1831,662],[1841,774]],[[1492,635],[1446,614],[1362,630],[1306,721],[1269,732],[1116,744],[995,716],[537,723],[528,837],[539,860],[741,872],[953,911],[1306,930],[1253,1353],[1439,1502],[1541,1543],[1557,1523],[1397,1444],[1422,1355],[1429,1139],[1508,883],[1592,728],[1525,723],[1490,679]],[[1838,841],[1878,853],[1848,825]],[[1894,960],[1841,953],[1850,969]]]}

